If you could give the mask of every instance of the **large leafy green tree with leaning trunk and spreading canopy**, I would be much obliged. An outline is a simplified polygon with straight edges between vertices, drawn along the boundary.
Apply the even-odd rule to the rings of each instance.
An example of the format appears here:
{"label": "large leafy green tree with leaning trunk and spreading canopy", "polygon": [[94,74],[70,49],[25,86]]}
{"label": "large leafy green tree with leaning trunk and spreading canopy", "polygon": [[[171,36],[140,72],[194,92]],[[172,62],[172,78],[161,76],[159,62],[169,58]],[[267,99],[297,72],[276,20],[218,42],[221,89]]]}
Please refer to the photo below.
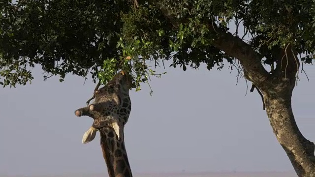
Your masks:
{"label": "large leafy green tree with leaning trunk and spreading canopy", "polygon": [[299,69],[315,59],[315,0],[2,0],[0,10],[3,87],[31,82],[30,68],[41,65],[44,79],[61,81],[90,72],[106,83],[128,70],[139,90],[159,76],[149,61],[172,60],[184,70],[227,61],[261,94],[297,175],[315,175],[315,145],[291,107]]}

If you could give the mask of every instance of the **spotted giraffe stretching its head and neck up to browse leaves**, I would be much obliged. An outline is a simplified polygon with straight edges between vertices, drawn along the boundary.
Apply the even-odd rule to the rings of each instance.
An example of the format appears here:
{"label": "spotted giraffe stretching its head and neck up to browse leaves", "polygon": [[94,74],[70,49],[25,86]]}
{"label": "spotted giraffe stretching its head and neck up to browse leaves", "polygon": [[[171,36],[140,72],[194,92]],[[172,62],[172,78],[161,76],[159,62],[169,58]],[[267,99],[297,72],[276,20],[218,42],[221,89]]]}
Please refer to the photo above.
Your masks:
{"label": "spotted giraffe stretching its head and neck up to browse leaves", "polygon": [[93,104],[75,111],[78,117],[94,119],[82,142],[91,142],[99,131],[109,177],[132,177],[124,141],[124,127],[131,111],[129,89],[131,77],[120,71],[103,88],[95,90]]}

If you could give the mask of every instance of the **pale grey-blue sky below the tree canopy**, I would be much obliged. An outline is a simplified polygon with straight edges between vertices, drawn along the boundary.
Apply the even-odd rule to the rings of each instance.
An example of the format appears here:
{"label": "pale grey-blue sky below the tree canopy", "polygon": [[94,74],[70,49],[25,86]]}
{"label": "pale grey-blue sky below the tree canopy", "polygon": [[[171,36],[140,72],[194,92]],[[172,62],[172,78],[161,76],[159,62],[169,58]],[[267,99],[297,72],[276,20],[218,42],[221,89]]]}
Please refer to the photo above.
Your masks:
{"label": "pale grey-blue sky below the tree canopy", "polygon": [[[306,68],[311,81],[300,74],[293,111],[304,136],[315,141],[315,68]],[[243,79],[235,86],[236,70],[166,71],[153,78],[153,96],[146,85],[130,91],[125,141],[133,173],[293,171],[258,93],[245,96]],[[93,119],[74,115],[92,96],[92,80],[83,86],[83,78],[68,75],[63,83],[44,82],[41,72],[33,70],[32,85],[0,91],[0,176],[107,174],[99,134],[81,143]]]}

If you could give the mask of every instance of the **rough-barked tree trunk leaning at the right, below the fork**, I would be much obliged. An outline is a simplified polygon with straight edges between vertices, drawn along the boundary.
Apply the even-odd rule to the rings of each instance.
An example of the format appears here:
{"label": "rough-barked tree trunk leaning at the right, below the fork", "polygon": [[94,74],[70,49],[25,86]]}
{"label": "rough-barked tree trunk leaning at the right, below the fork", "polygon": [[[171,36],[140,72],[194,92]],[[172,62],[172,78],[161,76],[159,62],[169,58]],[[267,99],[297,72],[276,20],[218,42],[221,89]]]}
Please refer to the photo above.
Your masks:
{"label": "rough-barked tree trunk leaning at the right, below the fork", "polygon": [[299,177],[315,177],[315,145],[302,135],[292,111],[291,96],[295,82],[292,83],[287,78],[278,78],[270,83],[272,84],[266,87],[268,89],[261,91],[277,140]]}

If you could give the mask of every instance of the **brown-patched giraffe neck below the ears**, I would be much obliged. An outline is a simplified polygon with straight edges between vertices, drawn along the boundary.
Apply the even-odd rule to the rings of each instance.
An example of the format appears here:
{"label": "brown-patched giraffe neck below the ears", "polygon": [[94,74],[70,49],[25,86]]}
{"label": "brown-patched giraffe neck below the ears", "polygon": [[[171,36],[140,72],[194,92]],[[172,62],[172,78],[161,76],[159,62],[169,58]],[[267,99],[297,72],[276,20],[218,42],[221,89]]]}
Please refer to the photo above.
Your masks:
{"label": "brown-patched giraffe neck below the ears", "polygon": [[118,141],[113,130],[100,131],[100,143],[109,177],[132,177],[124,136]]}

